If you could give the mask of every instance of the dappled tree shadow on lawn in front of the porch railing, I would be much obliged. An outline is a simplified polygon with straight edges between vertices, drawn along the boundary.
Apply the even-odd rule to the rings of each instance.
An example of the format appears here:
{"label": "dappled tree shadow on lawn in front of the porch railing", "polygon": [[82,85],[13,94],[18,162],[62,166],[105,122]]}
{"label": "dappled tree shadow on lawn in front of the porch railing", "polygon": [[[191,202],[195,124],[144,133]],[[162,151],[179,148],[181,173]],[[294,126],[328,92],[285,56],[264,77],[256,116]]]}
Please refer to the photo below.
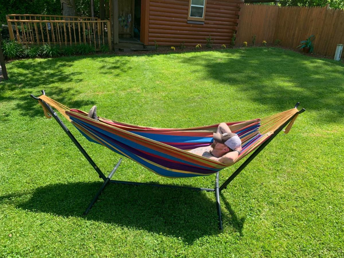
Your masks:
{"label": "dappled tree shadow on lawn in front of the porch railing", "polygon": [[[66,67],[73,66],[75,61],[92,59],[102,63],[100,74],[114,74],[118,76],[127,72],[131,67],[126,60],[113,62],[104,60],[102,56],[76,56],[53,59],[18,60],[10,65],[10,79],[0,84],[0,102],[18,101],[12,109],[21,111],[23,116],[37,116],[42,114],[37,101],[29,97],[30,94],[40,96],[44,89],[54,100],[72,108],[94,105],[93,101],[77,99],[83,94],[76,87],[59,87],[58,83],[80,83],[87,80],[87,73],[66,72]],[[39,87],[37,89],[37,87]],[[10,110],[9,110],[10,112]],[[5,114],[4,116],[6,116]]]}

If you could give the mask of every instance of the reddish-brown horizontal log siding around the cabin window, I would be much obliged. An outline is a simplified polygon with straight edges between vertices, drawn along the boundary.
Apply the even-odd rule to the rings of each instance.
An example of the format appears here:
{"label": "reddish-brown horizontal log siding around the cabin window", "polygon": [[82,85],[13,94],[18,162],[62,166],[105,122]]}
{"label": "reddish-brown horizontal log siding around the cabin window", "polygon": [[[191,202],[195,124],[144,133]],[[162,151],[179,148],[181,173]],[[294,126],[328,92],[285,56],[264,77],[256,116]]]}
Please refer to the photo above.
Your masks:
{"label": "reddish-brown horizontal log siding around the cabin window", "polygon": [[207,0],[204,24],[187,23],[189,0],[150,0],[148,44],[162,46],[229,44],[238,24],[239,5],[244,0]]}

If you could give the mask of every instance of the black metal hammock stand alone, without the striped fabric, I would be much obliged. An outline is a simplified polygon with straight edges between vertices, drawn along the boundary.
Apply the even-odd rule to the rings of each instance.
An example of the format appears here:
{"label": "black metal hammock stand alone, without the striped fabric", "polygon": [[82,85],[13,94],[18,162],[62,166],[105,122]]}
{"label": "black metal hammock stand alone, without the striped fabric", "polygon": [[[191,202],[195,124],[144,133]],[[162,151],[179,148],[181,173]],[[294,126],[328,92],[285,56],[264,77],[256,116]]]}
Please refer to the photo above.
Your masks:
{"label": "black metal hammock stand alone, without the striped fabric", "polygon": [[[42,90],[42,94],[45,95],[44,90]],[[75,146],[79,149],[79,151],[84,155],[86,160],[90,163],[90,165],[94,168],[94,170],[98,173],[99,178],[103,179],[103,184],[99,188],[98,192],[94,196],[93,200],[88,205],[86,211],[83,213],[83,215],[87,215],[89,210],[92,208],[92,206],[95,204],[95,202],[98,200],[99,195],[103,192],[105,187],[111,183],[111,184],[128,184],[128,185],[146,185],[146,186],[156,186],[156,187],[168,187],[168,188],[174,188],[174,189],[188,189],[188,190],[194,190],[194,191],[206,191],[206,192],[215,192],[215,198],[216,198],[216,209],[217,209],[217,215],[218,215],[218,226],[220,230],[223,230],[223,224],[222,224],[222,214],[221,214],[221,204],[220,204],[220,192],[227,188],[227,185],[233,181],[233,179],[261,152],[268,144],[269,142],[278,135],[280,131],[284,127],[288,125],[288,123],[297,117],[299,114],[305,111],[304,108],[302,108],[300,111],[296,112],[291,118],[289,118],[286,122],[283,123],[264,143],[262,143],[252,154],[249,155],[249,157],[239,166],[239,168],[234,171],[232,175],[229,176],[229,178],[220,186],[219,185],[219,172],[216,173],[215,177],[215,187],[214,188],[202,188],[202,187],[191,187],[191,186],[178,186],[178,185],[165,185],[165,184],[152,184],[152,183],[139,183],[139,182],[131,182],[131,181],[118,181],[118,180],[111,180],[112,176],[115,174],[116,170],[118,169],[122,158],[119,159],[116,166],[112,171],[109,173],[108,176],[105,176],[105,174],[99,169],[99,167],[96,165],[96,163],[93,161],[93,159],[88,155],[88,153],[85,151],[85,149],[81,146],[81,144],[76,140],[74,135],[68,130],[66,125],[62,122],[59,116],[57,116],[56,112],[52,109],[52,107],[47,104],[44,100],[35,97],[34,95],[30,95],[31,98],[35,100],[40,100],[43,106],[47,109],[47,111],[50,112],[52,117],[56,120],[58,125],[62,127],[64,132],[67,134],[67,136],[72,140],[72,142],[75,144]],[[295,108],[297,108],[300,105],[300,103],[296,103]]]}

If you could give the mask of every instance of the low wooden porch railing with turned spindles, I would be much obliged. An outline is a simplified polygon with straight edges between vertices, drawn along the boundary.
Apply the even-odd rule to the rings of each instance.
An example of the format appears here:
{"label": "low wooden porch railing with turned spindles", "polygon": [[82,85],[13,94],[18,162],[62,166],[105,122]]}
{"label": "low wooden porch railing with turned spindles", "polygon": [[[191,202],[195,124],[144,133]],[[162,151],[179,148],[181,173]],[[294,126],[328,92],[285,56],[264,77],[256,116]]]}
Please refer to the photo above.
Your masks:
{"label": "low wooden porch railing with turned spindles", "polygon": [[87,43],[94,45],[96,50],[108,44],[109,49],[112,50],[110,21],[107,20],[60,15],[11,14],[7,16],[7,23],[10,39],[15,39],[26,46],[34,44],[71,46]]}

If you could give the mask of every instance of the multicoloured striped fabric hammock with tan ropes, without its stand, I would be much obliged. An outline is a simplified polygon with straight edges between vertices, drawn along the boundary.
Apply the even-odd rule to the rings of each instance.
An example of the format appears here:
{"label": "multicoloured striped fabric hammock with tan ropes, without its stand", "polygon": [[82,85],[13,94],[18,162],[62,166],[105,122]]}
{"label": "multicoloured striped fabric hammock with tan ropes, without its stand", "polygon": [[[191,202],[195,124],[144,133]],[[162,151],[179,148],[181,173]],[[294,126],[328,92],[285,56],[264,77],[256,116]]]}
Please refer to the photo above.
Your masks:
{"label": "multicoloured striped fabric hammock with tan ropes, without its stand", "polygon": [[[97,121],[88,118],[86,112],[69,109],[46,95],[39,98],[47,118],[51,118],[51,115],[43,106],[42,100],[57,109],[89,141],[136,161],[161,176],[205,176],[229,166],[187,151],[211,145],[218,124],[177,129],[136,126],[101,117],[98,117]],[[293,108],[262,119],[227,122],[230,130],[236,133],[242,142],[243,150],[236,162],[260,146],[297,112],[297,108]],[[289,132],[296,118],[297,115],[286,127],[285,133]]]}

